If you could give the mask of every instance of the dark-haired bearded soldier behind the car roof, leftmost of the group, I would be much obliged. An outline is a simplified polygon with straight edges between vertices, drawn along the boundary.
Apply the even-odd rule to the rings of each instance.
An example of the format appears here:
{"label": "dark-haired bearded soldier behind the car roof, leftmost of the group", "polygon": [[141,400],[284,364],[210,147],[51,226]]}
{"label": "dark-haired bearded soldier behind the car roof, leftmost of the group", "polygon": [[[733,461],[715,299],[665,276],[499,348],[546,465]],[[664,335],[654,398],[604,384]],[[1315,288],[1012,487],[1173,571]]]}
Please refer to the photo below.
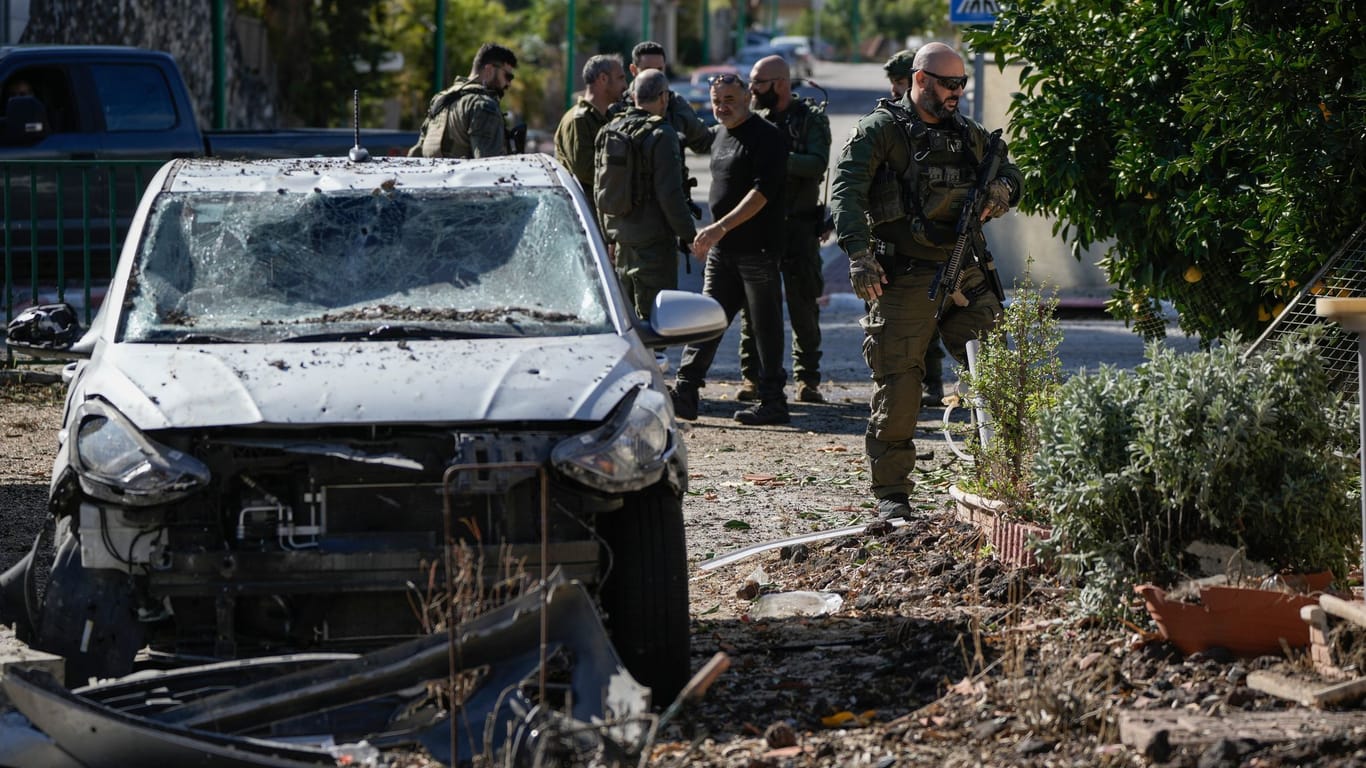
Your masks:
{"label": "dark-haired bearded soldier behind the car roof, leftmost of the group", "polygon": [[485,42],[469,78],[432,97],[418,143],[408,157],[493,157],[510,154],[508,128],[499,101],[512,85],[516,53]]}

